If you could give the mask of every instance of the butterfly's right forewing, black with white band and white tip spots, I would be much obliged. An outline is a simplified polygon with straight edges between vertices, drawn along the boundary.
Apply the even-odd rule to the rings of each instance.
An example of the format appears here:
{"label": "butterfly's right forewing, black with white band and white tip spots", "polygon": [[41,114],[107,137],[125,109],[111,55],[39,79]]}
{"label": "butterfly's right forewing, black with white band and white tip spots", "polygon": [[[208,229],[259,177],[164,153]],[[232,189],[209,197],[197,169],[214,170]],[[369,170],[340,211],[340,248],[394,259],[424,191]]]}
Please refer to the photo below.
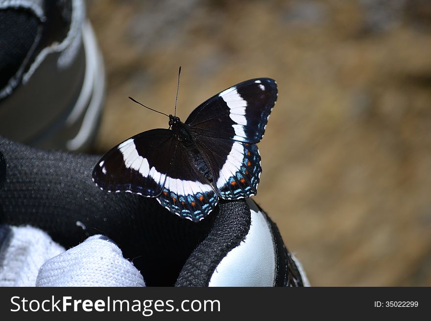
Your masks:
{"label": "butterfly's right forewing, black with white band and white tip spots", "polygon": [[251,79],[211,97],[186,120],[198,135],[258,143],[277,100],[273,79]]}

